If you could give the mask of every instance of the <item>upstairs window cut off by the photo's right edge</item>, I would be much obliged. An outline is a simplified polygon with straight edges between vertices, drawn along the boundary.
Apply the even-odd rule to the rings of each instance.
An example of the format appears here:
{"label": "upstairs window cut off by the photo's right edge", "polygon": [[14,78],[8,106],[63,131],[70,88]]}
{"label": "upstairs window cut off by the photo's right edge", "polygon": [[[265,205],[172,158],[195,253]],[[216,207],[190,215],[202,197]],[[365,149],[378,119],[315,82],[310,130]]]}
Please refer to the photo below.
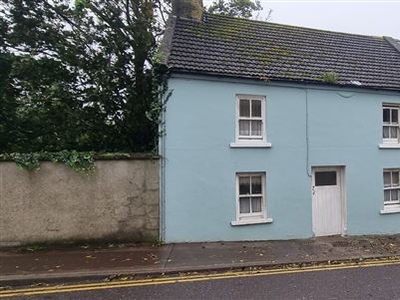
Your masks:
{"label": "upstairs window cut off by the photo's right edge", "polygon": [[399,106],[384,105],[383,106],[383,143],[399,144],[400,143],[400,127],[399,127]]}

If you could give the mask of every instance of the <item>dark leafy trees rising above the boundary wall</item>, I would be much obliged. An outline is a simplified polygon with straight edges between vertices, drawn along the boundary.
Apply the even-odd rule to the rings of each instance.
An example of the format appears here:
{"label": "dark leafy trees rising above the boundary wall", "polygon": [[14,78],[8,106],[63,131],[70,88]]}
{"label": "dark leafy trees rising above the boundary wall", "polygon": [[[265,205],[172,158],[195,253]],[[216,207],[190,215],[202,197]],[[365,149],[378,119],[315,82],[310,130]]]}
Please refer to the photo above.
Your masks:
{"label": "dark leafy trees rising above the boundary wall", "polygon": [[3,0],[0,153],[153,149],[164,4]]}

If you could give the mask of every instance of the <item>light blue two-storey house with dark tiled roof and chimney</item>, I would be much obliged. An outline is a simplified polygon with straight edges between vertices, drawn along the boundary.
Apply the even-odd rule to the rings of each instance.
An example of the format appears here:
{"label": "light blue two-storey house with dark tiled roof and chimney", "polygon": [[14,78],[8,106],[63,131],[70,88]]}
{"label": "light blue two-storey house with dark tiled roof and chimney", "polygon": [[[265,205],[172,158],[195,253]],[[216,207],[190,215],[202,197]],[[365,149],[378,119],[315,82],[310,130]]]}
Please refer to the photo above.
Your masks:
{"label": "light blue two-storey house with dark tiled roof and chimney", "polygon": [[191,14],[163,51],[166,242],[400,233],[400,42]]}

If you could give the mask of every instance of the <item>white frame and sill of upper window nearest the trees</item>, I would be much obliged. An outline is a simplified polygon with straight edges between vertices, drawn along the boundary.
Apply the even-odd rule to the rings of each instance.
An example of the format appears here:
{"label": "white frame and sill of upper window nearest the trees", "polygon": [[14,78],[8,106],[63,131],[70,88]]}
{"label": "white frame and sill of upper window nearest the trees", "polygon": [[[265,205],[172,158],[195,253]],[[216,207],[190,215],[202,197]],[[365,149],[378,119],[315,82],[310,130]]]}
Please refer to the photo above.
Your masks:
{"label": "white frame and sill of upper window nearest the trees", "polygon": [[[240,100],[250,101],[250,117],[240,116]],[[261,117],[251,116],[251,101],[261,101]],[[261,121],[261,135],[240,135],[240,121]],[[236,125],[235,125],[235,142],[231,143],[232,148],[241,147],[271,147],[270,143],[267,143],[267,132],[266,132],[266,97],[261,95],[236,95]]]}

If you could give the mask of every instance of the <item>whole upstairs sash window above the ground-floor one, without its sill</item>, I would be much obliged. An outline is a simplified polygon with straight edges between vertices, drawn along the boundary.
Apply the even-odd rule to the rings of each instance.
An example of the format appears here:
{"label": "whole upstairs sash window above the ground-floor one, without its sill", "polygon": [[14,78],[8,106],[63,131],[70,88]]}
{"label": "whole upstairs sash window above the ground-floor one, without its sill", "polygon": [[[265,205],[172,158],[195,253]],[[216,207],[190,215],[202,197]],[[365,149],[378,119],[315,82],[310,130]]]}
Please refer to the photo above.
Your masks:
{"label": "whole upstairs sash window above the ground-floor one, without its sill", "polygon": [[265,97],[236,96],[236,142],[265,143]]}

